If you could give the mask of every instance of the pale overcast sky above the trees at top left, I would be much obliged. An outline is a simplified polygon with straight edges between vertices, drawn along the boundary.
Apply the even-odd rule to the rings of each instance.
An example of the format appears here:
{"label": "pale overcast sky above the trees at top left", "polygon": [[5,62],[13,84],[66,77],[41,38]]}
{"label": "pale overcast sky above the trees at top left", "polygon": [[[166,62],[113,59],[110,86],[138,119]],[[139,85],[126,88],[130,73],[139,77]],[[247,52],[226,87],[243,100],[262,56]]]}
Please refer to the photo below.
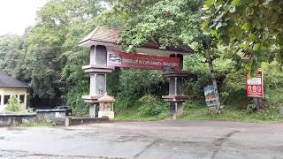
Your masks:
{"label": "pale overcast sky above the trees at top left", "polygon": [[22,35],[48,0],[0,0],[0,34]]}

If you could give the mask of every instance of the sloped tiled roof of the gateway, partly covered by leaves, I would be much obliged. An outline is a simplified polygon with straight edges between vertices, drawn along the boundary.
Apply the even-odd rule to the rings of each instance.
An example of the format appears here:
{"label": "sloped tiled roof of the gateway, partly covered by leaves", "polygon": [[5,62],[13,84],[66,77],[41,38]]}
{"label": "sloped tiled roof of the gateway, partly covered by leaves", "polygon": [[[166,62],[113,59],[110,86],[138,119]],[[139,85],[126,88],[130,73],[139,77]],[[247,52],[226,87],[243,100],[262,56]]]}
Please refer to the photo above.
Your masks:
{"label": "sloped tiled roof of the gateway, partly covered by leaves", "polygon": [[[84,43],[88,41],[95,41],[95,42],[110,42],[113,44],[118,44],[119,42],[119,29],[117,28],[106,28],[106,27],[96,27],[90,34],[88,34],[85,38],[83,38],[79,43]],[[149,38],[149,42],[144,46],[144,48],[148,49],[159,49],[158,43],[155,39],[151,36]],[[183,53],[193,53],[194,50],[188,46],[180,46],[180,47],[171,47],[167,48],[166,50],[171,51],[178,51]]]}

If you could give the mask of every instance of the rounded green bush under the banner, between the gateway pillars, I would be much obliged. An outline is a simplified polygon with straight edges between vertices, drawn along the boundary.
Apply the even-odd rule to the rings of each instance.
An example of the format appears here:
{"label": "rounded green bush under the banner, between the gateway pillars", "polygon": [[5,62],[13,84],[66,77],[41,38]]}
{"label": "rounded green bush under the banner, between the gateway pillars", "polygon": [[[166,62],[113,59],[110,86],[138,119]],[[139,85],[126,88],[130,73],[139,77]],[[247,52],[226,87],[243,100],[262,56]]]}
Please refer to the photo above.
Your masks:
{"label": "rounded green bush under the banner, between the gateway pillars", "polygon": [[156,116],[167,111],[169,106],[154,95],[144,95],[135,105],[139,108],[139,113],[146,116]]}

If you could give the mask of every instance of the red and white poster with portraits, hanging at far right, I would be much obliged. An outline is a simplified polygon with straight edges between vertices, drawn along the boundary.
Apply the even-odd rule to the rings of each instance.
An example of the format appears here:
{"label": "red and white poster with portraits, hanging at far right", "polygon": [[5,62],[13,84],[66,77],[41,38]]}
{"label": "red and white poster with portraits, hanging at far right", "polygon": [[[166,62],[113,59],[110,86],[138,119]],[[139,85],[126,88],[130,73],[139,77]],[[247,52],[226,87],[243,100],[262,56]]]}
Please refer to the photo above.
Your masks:
{"label": "red and white poster with portraits, hanging at far right", "polygon": [[258,71],[255,78],[249,78],[249,72],[246,72],[246,89],[248,97],[264,98],[264,73]]}

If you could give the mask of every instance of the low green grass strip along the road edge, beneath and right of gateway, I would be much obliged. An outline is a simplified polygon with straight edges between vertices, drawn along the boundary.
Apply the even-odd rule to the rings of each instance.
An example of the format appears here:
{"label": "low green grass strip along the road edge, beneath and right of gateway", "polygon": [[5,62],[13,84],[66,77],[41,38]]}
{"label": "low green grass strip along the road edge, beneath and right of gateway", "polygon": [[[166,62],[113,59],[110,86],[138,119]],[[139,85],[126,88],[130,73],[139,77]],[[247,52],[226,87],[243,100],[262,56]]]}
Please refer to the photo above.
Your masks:
{"label": "low green grass strip along the road edge, beneath and right of gateway", "polygon": [[[220,115],[208,115],[205,105],[186,102],[184,114],[180,120],[220,120],[220,121],[239,121],[251,123],[278,123],[283,122],[283,115],[279,114],[279,110],[271,108],[260,113],[248,113],[246,110],[235,109],[234,106],[226,106],[224,112]],[[169,118],[169,110],[164,110],[156,116],[141,116],[136,108],[126,108],[117,112],[115,120],[125,121],[150,121],[162,120]]]}

